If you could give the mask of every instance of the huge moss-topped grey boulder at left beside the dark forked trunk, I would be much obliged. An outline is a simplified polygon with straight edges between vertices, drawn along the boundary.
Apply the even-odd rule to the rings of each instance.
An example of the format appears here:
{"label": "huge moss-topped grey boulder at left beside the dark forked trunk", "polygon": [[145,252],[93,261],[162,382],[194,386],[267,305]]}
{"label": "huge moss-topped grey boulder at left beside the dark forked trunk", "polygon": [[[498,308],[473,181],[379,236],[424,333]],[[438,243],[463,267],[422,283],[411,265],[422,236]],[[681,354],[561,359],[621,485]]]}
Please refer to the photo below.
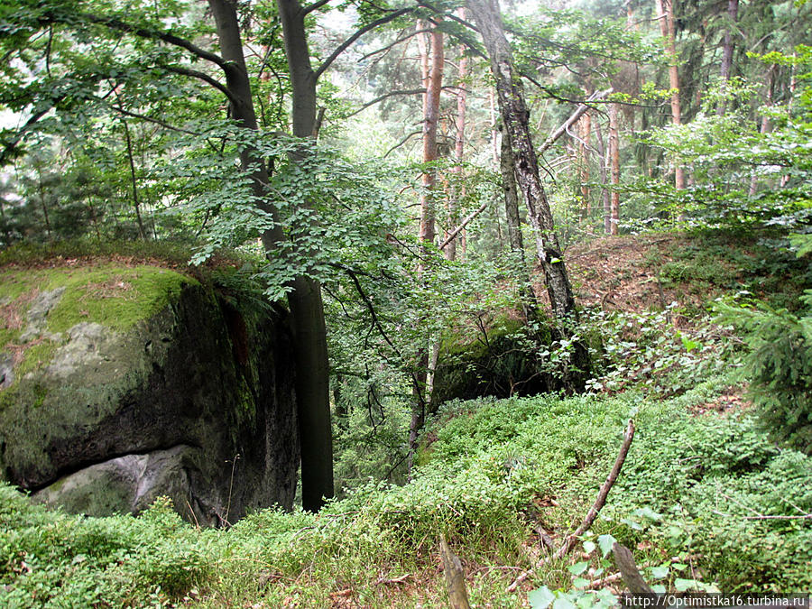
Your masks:
{"label": "huge moss-topped grey boulder at left beside the dark forked trunk", "polygon": [[283,309],[179,272],[0,271],[0,475],[71,512],[160,495],[199,524],[290,508],[300,459]]}

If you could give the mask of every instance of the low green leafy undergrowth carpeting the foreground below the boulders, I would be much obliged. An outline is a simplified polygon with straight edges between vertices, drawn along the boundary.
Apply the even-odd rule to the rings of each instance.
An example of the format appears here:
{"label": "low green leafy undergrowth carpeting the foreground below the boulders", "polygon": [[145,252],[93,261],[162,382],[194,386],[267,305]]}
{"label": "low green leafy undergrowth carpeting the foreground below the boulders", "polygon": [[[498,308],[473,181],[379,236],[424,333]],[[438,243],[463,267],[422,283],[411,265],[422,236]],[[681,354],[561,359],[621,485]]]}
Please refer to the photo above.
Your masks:
{"label": "low green leafy undergrowth carpeting the foreground below the boulders", "polygon": [[691,412],[724,388],[451,402],[411,483],[370,481],[318,514],[264,510],[229,531],[198,531],[165,503],[137,518],[48,512],[0,487],[0,605],[441,606],[445,533],[474,604],[521,606],[534,587],[572,585],[579,551],[505,591],[539,556],[534,527],[560,542],[583,517],[630,415],[637,434],[594,535],[634,549],[661,585],[808,589],[812,526],[789,516],[812,512],[812,459],[746,411]]}

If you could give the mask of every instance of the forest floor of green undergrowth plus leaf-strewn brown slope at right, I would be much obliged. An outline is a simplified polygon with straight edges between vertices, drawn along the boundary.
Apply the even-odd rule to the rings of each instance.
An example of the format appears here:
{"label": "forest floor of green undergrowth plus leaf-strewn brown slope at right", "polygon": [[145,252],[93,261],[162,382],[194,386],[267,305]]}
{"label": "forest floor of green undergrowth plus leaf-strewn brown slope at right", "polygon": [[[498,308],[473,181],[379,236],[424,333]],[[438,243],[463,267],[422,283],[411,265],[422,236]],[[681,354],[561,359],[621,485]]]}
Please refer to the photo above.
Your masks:
{"label": "forest floor of green undergrowth plus leaf-strewn brown slope at right", "polygon": [[[812,457],[764,435],[735,375],[739,345],[707,310],[742,291],[797,300],[805,280],[760,247],[654,235],[571,249],[585,328],[602,337],[590,391],[449,402],[410,483],[370,480],[318,514],[199,530],[165,503],[84,518],[0,485],[0,605],[447,606],[440,533],[475,607],[600,604],[622,589],[612,540],[658,590],[808,590]],[[549,558],[595,501],[630,417],[637,433],[600,517]]]}

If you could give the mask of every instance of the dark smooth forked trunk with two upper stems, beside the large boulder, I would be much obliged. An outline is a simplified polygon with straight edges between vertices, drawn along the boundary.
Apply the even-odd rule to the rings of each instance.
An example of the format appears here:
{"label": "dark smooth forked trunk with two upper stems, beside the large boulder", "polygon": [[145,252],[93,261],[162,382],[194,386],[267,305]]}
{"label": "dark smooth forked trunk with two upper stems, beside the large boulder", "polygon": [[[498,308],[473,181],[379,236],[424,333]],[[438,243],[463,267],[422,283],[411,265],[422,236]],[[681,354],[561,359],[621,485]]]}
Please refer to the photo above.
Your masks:
{"label": "dark smooth forked trunk with two upper stems, beside the large boulder", "polygon": [[[316,76],[310,68],[304,14],[298,0],[278,0],[285,51],[293,88],[293,134],[309,137],[316,124]],[[258,130],[251,84],[245,68],[245,56],[235,3],[208,0],[217,23],[220,51],[226,64],[226,87],[232,93],[232,115],[245,129]],[[252,188],[259,207],[276,219],[274,209],[265,201],[264,185],[268,173],[261,156],[253,149],[241,153],[243,167],[250,168]],[[284,235],[275,224],[262,235],[263,246],[270,251],[279,246]],[[327,330],[318,281],[299,277],[288,296],[296,333],[293,359],[296,363],[296,401],[301,443],[302,506],[318,510],[323,497],[333,496],[333,436],[330,425],[329,364]]]}

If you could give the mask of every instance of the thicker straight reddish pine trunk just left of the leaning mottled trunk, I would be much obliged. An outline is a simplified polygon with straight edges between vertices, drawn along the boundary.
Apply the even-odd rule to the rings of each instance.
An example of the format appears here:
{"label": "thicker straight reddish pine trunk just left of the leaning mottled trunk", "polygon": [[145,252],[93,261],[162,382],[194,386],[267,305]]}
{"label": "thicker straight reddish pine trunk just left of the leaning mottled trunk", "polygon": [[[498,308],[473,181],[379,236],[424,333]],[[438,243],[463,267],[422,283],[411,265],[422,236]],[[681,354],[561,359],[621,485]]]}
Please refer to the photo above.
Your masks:
{"label": "thicker straight reddish pine trunk just left of the leaning mottled trunk", "polygon": [[[429,65],[428,50],[420,59],[423,66]],[[425,59],[424,59],[425,58]],[[437,126],[439,119],[439,96],[443,85],[443,67],[445,57],[443,54],[443,32],[435,28],[431,32],[431,66],[425,80],[426,94],[423,97],[423,159],[424,163],[437,161]],[[423,172],[422,192],[420,193],[420,262],[418,263],[418,277],[423,280],[426,273],[423,262],[430,255],[429,245],[434,243],[435,237],[435,204],[437,189],[437,169],[431,167]],[[412,457],[417,449],[418,435],[426,421],[426,411],[429,408],[429,341],[420,346],[417,355],[417,370],[414,374],[412,387],[413,399],[411,411],[411,424],[409,427],[409,464],[411,471]]]}

